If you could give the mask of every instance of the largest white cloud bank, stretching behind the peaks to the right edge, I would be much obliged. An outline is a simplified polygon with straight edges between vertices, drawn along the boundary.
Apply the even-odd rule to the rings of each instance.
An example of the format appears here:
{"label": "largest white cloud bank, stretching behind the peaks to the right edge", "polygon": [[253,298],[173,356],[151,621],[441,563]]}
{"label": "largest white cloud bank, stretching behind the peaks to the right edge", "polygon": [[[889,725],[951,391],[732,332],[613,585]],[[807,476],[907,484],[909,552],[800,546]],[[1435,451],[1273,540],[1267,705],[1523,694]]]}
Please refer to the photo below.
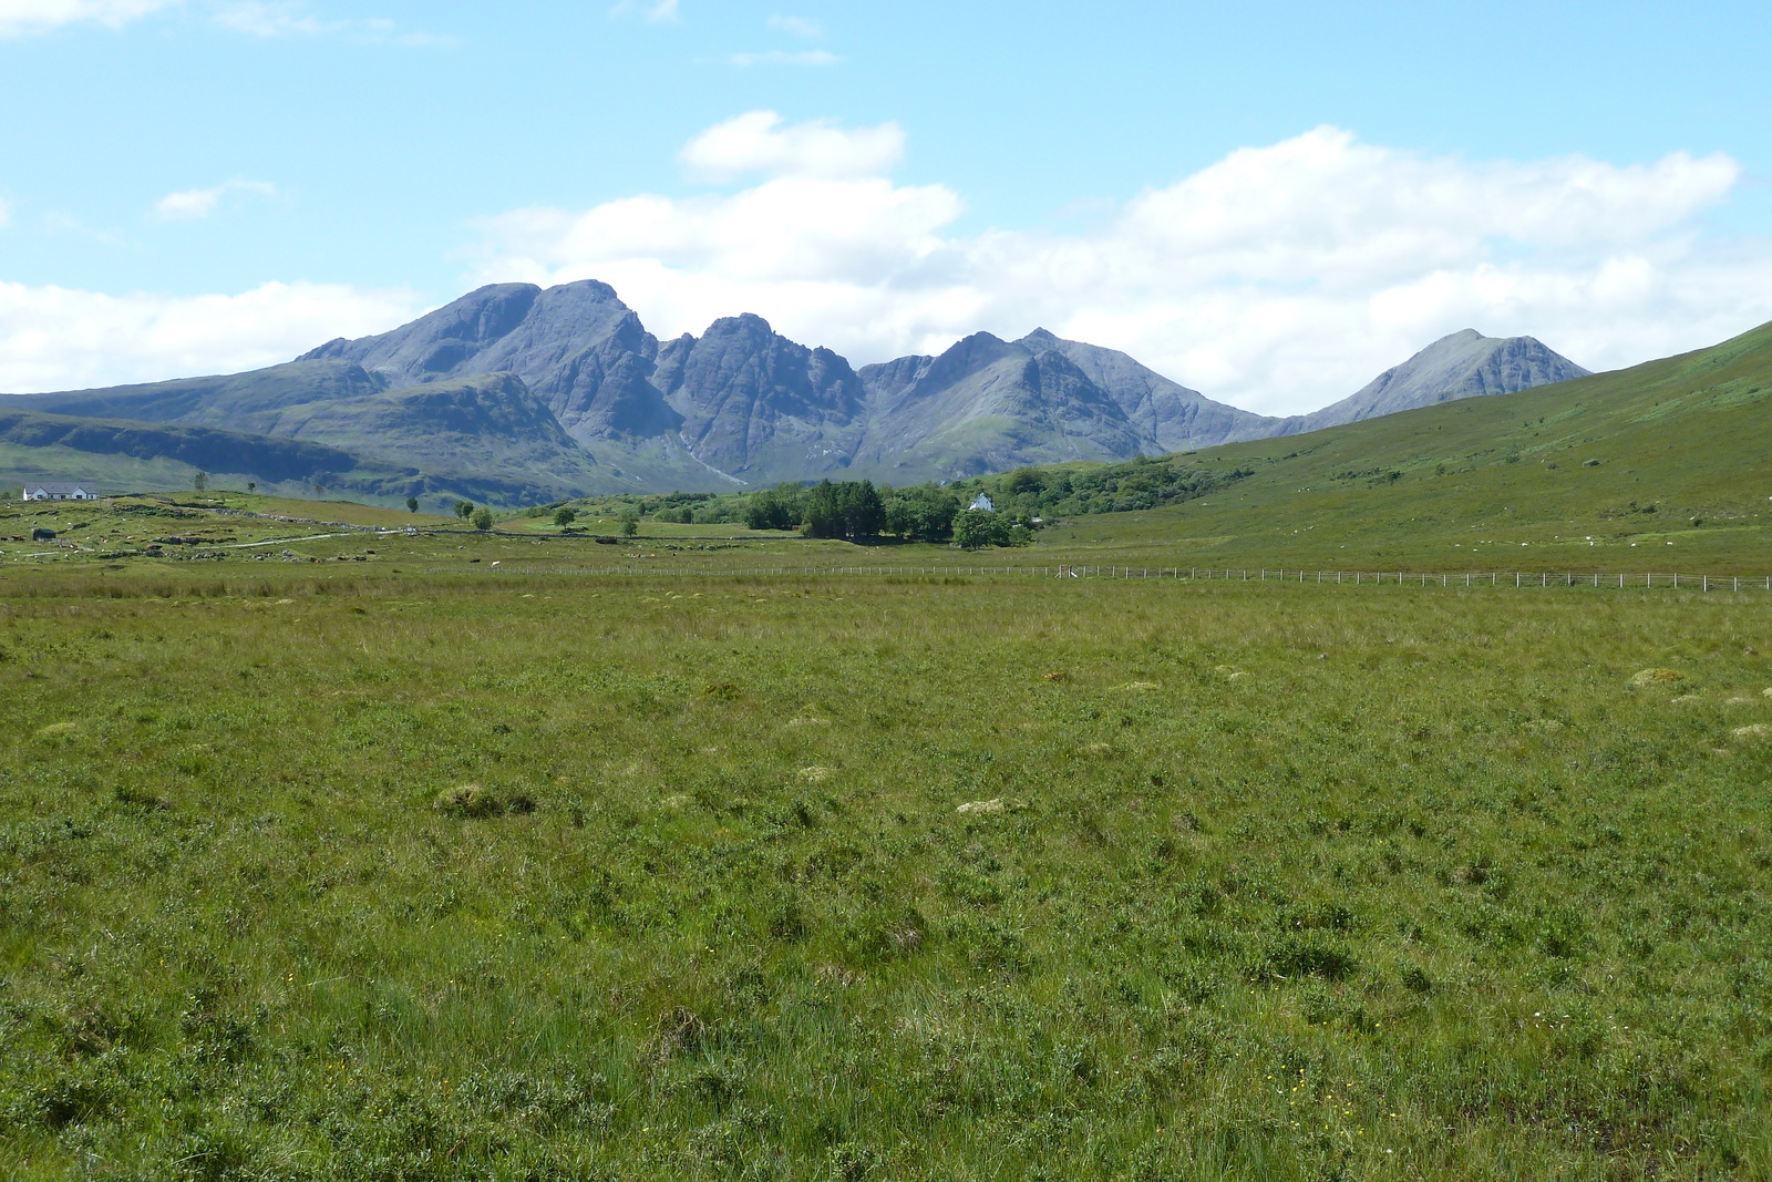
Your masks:
{"label": "largest white cloud bank, stretching behind the peaks to the right edge", "polygon": [[1698,223],[1742,183],[1721,154],[1465,161],[1317,128],[1139,193],[1088,232],[962,236],[957,193],[886,179],[902,151],[895,124],[751,112],[682,159],[760,183],[493,218],[478,278],[601,278],[659,335],[758,312],[858,365],[1044,324],[1265,413],[1345,397],[1460,328],[1611,369],[1772,319],[1772,239]]}

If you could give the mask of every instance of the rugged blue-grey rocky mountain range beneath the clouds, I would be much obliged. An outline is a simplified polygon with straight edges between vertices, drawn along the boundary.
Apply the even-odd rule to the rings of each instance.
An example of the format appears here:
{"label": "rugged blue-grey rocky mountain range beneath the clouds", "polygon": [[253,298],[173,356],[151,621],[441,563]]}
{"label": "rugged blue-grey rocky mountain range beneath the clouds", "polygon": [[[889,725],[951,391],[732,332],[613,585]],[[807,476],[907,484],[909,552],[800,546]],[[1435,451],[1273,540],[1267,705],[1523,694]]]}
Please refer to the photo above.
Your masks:
{"label": "rugged blue-grey rocky mountain range beneath the clouds", "polygon": [[[1271,418],[1045,330],[854,369],[758,315],[659,340],[606,284],[496,284],[246,374],[7,397],[0,466],[66,473],[83,463],[80,441],[103,436],[113,459],[209,457],[218,477],[266,482],[307,466],[298,480],[369,498],[913,484],[1285,436],[1586,372],[1531,337],[1464,331],[1341,402]],[[294,443],[308,450],[278,452]],[[106,471],[120,470],[73,475]]]}

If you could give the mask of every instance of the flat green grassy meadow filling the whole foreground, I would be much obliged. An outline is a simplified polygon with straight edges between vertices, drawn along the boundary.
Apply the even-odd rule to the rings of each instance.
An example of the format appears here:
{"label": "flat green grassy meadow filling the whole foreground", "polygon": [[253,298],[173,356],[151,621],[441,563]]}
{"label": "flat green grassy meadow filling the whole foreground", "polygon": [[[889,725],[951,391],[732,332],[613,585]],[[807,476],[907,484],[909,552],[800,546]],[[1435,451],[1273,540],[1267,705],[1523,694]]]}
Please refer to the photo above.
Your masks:
{"label": "flat green grassy meadow filling the whole foreground", "polygon": [[473,544],[4,567],[0,1175],[1772,1177],[1765,592]]}

